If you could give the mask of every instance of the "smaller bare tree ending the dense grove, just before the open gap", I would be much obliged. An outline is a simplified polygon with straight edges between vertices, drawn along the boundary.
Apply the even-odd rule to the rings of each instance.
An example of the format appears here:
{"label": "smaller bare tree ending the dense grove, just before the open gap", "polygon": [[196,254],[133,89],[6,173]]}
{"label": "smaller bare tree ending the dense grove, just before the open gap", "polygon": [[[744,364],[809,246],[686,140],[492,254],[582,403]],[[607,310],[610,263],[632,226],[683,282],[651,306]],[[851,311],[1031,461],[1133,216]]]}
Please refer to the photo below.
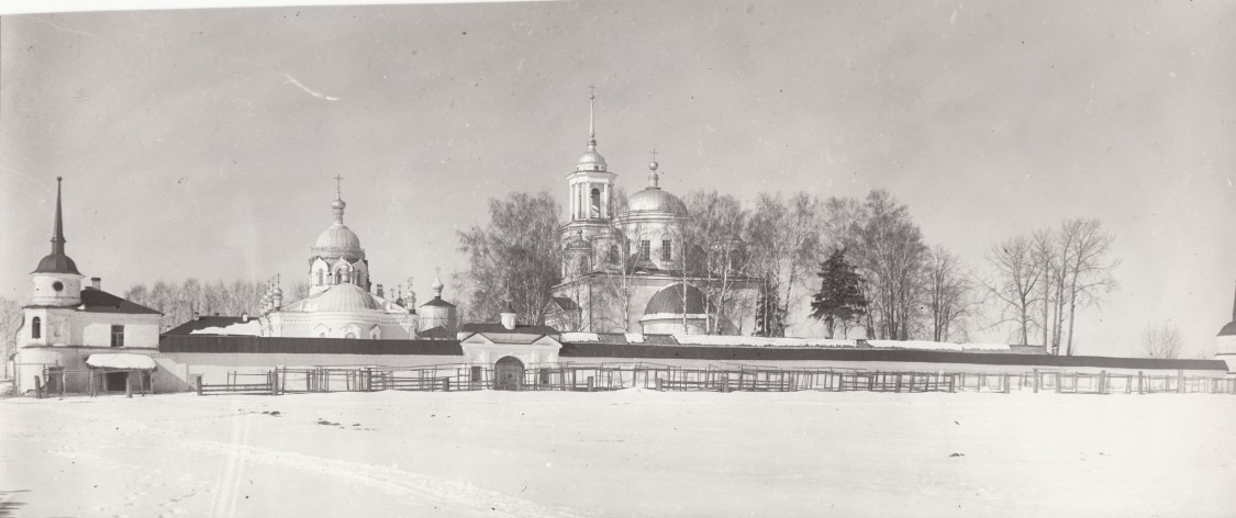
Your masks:
{"label": "smaller bare tree ending the dense grove, just before the open gap", "polygon": [[967,324],[974,314],[974,281],[962,259],[942,245],[927,257],[926,301],[931,316],[932,340],[947,342],[953,335],[967,335]]}

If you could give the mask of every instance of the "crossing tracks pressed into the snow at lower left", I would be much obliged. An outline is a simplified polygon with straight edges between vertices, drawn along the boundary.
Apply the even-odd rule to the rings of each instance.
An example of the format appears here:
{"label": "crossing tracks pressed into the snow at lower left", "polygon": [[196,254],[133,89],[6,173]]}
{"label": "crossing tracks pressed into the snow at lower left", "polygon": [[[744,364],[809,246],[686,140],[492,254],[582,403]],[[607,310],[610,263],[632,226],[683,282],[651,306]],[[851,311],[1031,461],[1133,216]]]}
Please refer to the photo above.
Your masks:
{"label": "crossing tracks pressed into the snow at lower left", "polygon": [[[49,405],[44,409],[63,412],[57,406]],[[153,428],[140,421],[106,418],[109,428],[116,432],[148,442],[158,438],[173,443],[177,448],[193,449],[201,453],[224,455],[226,461],[216,476],[214,487],[215,496],[210,504],[208,516],[231,517],[236,514],[237,495],[242,482],[241,474],[248,462],[289,467],[303,472],[324,475],[351,482],[362,487],[381,491],[408,502],[435,503],[440,508],[455,511],[472,511],[476,514],[487,517],[576,517],[583,516],[576,512],[564,512],[550,509],[522,498],[507,496],[496,491],[482,490],[464,482],[455,482],[430,477],[421,474],[404,471],[394,466],[376,466],[371,464],[353,462],[339,459],[328,459],[314,455],[304,455],[292,451],[277,451],[267,448],[251,446],[248,440],[248,419],[253,414],[234,417],[232,442],[218,443],[205,439],[190,438],[185,434]],[[103,424],[103,423],[100,423]],[[43,438],[40,438],[43,440]],[[94,454],[78,451],[72,448],[62,448],[58,454],[63,456],[77,456],[93,459],[95,462],[110,462]],[[194,496],[189,492],[182,498]],[[132,496],[131,496],[132,497]],[[130,498],[131,498],[130,497]],[[172,502],[174,503],[174,501]],[[162,506],[167,506],[164,502]],[[103,509],[99,509],[103,511]]]}

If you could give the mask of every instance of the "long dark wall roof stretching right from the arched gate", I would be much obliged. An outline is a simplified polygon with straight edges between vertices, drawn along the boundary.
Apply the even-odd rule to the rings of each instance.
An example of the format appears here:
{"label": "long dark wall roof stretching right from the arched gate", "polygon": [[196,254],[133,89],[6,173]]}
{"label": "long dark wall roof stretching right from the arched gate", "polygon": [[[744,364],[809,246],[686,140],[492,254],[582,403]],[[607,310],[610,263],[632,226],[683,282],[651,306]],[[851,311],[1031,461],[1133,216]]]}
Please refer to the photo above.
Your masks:
{"label": "long dark wall roof stretching right from the arched gate", "polygon": [[640,345],[570,343],[559,350],[561,358],[623,358],[633,360],[831,360],[831,361],[907,361],[936,364],[1009,365],[1022,368],[1109,368],[1109,369],[1187,369],[1227,371],[1222,360],[1158,360],[1149,358],[1056,356],[1043,354],[981,354],[906,349],[822,349],[756,348],[700,345]]}

